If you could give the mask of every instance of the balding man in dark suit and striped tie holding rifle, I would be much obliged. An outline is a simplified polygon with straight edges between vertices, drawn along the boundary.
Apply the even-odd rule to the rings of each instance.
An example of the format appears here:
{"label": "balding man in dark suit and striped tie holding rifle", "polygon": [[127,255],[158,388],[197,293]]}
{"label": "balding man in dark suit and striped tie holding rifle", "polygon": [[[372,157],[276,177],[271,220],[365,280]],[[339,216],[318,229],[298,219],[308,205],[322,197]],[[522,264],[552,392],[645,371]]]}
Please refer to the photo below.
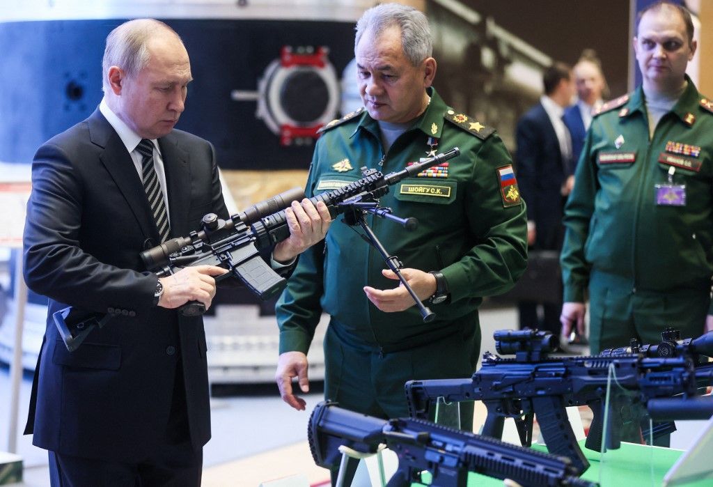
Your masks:
{"label": "balding man in dark suit and striped tie holding rifle", "polygon": [[[48,449],[53,486],[200,485],[205,333],[177,308],[210,307],[225,270],[158,279],[139,257],[198,230],[205,213],[227,217],[212,145],[173,128],[191,80],[170,27],[122,24],[107,38],[98,110],[36,153],[25,279],[50,299],[25,432]],[[291,235],[272,252],[282,270],[329,227],[324,204],[286,213]],[[67,306],[116,316],[68,352],[51,319]]]}

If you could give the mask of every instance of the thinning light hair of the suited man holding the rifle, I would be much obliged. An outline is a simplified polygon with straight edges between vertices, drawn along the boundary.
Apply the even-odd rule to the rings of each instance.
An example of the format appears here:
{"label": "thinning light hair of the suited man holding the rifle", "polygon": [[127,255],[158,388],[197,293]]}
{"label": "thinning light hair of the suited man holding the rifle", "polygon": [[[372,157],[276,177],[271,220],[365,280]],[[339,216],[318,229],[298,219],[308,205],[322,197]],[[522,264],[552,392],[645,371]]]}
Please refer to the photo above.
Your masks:
{"label": "thinning light hair of the suited man holding the rifle", "polygon": [[106,48],[101,61],[102,90],[105,93],[109,88],[109,68],[118,66],[128,77],[135,77],[148,64],[150,56],[146,43],[160,31],[168,31],[183,43],[173,29],[154,19],[124,22],[106,36]]}

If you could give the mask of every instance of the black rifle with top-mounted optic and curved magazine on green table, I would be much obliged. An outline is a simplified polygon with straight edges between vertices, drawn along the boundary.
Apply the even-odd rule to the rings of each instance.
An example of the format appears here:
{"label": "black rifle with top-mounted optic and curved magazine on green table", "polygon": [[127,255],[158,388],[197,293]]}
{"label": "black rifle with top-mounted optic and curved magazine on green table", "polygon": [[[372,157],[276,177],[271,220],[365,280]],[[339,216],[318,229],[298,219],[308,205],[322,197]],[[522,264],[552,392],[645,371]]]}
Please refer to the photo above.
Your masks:
{"label": "black rifle with top-mounted optic and curved magazine on green table", "polygon": [[[550,358],[548,354],[555,350],[556,344],[556,337],[550,333],[499,330],[493,336],[497,351],[515,354],[514,359],[487,352],[483,354],[481,369],[467,379],[406,382],[409,414],[428,418],[431,404],[439,397],[446,402],[481,400],[488,410],[482,433],[499,439],[504,419],[513,418],[523,446],[532,443],[536,414],[548,451],[568,456],[582,470],[588,468],[589,462],[577,444],[566,406],[586,405],[592,409],[587,448],[600,451],[604,433],[605,447],[618,448],[622,438],[640,436],[642,408],[648,401],[677,394],[683,398],[695,396],[697,387],[704,381],[710,382],[712,376],[697,375],[689,357],[620,354]],[[616,386],[611,388],[605,411],[610,370]],[[607,431],[604,431],[605,415]]]}

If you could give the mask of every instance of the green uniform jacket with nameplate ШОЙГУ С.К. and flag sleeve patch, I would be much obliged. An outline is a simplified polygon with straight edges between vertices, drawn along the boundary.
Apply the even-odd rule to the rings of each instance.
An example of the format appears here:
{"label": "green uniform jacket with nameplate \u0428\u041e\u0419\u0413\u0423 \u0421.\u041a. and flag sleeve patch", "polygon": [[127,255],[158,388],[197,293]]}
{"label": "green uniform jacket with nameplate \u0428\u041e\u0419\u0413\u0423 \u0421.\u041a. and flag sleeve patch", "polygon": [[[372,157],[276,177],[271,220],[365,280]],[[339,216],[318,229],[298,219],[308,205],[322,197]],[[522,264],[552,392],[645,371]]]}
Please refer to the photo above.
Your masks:
{"label": "green uniform jacket with nameplate \u0428\u041e\u0419\u0413\u0423 \u0421.\u041a. and flag sleeve patch", "polygon": [[[450,299],[429,305],[437,314],[429,324],[416,307],[381,312],[366,298],[364,286],[391,289],[398,281],[381,275],[383,257],[353,227],[333,222],[324,242],[299,257],[277,303],[280,353],[307,353],[322,310],[336,320],[342,337],[356,344],[387,352],[427,343],[446,334],[453,319],[475,313],[481,297],[506,292],[525,270],[525,205],[514,178],[508,179],[514,175],[508,176],[512,164],[505,145],[492,128],[456,113],[435,91],[431,95],[426,112],[386,154],[378,123],[363,109],[329,123],[317,141],[305,194],[311,197],[359,180],[362,166],[387,174],[434,150],[460,148],[461,155],[449,160],[447,168],[401,180],[381,198],[381,206],[394,215],[416,217],[416,230],[366,217],[404,267],[443,272]],[[337,326],[334,321],[332,326]]]}

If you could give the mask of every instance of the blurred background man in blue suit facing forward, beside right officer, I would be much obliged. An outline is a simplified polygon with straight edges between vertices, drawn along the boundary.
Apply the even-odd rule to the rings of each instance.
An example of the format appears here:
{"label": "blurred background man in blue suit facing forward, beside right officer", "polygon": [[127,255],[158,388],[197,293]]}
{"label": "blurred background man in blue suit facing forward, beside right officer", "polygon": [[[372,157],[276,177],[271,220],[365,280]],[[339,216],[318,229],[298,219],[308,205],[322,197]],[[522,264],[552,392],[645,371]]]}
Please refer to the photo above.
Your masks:
{"label": "blurred background man in blue suit facing forward, beside right officer", "polygon": [[607,91],[607,83],[602,74],[599,59],[588,49],[573,68],[577,103],[565,108],[562,120],[572,137],[572,163],[569,175],[574,176],[584,138],[592,123],[592,116],[602,106],[602,94]]}

